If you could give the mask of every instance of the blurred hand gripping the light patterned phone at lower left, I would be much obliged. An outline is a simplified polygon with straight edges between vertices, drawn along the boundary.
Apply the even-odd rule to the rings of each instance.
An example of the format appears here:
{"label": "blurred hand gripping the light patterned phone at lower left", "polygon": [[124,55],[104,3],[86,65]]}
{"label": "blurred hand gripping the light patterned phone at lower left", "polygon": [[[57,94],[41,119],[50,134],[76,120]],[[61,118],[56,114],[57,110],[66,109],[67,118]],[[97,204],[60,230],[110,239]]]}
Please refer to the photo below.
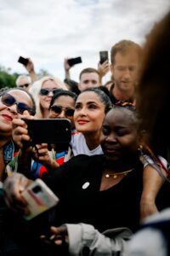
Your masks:
{"label": "blurred hand gripping the light patterned phone at lower left", "polygon": [[20,173],[13,173],[7,177],[3,183],[4,200],[9,208],[14,212],[28,214],[26,201],[22,197],[22,192],[32,181]]}

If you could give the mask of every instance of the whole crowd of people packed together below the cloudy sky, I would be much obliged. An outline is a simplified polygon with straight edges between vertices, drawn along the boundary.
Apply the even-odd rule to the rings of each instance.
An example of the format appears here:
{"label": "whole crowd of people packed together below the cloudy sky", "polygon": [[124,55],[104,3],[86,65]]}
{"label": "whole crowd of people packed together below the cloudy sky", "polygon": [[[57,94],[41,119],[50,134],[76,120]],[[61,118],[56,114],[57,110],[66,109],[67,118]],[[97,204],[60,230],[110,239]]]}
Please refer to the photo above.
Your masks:
{"label": "whole crowd of people packed together below the cloudy sky", "polygon": [[[68,59],[61,81],[38,79],[29,58],[29,75],[0,91],[0,255],[169,255],[169,38],[167,13],[79,82]],[[70,143],[32,144],[25,119],[68,119]],[[59,203],[26,221],[37,177]]]}

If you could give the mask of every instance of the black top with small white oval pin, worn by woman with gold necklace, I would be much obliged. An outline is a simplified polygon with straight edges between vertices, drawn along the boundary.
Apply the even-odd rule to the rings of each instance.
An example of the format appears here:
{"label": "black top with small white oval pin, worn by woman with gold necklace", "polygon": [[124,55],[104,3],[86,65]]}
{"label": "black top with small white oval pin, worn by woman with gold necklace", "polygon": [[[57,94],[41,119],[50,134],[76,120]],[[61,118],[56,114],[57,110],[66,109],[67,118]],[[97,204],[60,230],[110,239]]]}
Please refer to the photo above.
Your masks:
{"label": "black top with small white oval pin, worn by woman with gold necklace", "polygon": [[55,225],[83,222],[99,231],[121,226],[133,231],[138,228],[143,166],[137,163],[120,183],[99,191],[104,163],[103,155],[77,155],[52,177],[44,177],[60,200]]}

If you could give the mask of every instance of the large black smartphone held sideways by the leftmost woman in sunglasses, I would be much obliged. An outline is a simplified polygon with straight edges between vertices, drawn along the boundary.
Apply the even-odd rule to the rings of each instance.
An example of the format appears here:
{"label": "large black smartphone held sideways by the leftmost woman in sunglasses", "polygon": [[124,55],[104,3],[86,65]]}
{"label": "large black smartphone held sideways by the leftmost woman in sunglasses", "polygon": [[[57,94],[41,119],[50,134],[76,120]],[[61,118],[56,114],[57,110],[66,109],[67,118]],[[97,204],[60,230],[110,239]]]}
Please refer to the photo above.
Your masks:
{"label": "large black smartphone held sideways by the leftmost woman in sunglasses", "polygon": [[24,119],[31,144],[52,143],[67,149],[71,142],[71,121],[69,119]]}

